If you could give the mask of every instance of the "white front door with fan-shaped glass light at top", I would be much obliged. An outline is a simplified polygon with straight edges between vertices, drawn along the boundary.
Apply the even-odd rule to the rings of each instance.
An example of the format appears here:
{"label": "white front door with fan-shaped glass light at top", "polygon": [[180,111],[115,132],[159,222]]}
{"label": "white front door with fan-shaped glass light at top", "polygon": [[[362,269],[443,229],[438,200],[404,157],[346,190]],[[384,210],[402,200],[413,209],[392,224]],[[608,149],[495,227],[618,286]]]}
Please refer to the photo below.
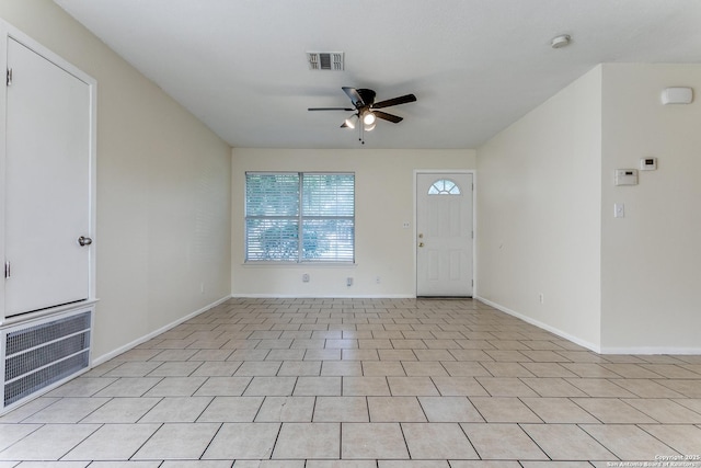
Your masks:
{"label": "white front door with fan-shaped glass light at top", "polygon": [[472,296],[472,174],[416,174],[416,295]]}

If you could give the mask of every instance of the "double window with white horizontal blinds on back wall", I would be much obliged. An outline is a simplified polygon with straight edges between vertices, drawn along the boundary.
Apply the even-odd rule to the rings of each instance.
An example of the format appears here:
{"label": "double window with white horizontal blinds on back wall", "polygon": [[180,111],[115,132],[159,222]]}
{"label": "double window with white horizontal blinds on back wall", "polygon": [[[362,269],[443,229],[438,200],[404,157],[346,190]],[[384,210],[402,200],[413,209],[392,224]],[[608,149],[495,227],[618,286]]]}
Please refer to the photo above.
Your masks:
{"label": "double window with white horizontal blinds on back wall", "polygon": [[246,262],[354,262],[355,174],[246,172]]}

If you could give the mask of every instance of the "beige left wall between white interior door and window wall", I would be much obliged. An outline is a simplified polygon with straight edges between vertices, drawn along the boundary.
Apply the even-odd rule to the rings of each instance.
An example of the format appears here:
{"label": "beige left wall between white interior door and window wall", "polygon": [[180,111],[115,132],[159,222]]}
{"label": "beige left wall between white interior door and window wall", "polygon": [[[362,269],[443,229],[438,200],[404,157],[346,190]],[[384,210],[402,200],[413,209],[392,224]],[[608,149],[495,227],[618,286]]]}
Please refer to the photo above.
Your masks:
{"label": "beige left wall between white interior door and window wall", "polygon": [[97,80],[93,356],[227,297],[229,146],[54,2],[0,16]]}

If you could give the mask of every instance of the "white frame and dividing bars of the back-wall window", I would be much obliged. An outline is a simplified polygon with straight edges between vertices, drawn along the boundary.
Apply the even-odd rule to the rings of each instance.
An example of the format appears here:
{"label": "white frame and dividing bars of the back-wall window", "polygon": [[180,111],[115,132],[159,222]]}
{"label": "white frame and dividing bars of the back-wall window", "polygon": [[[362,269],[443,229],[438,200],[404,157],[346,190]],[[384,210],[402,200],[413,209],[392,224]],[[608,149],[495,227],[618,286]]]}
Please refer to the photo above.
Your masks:
{"label": "white frame and dividing bars of the back-wall window", "polygon": [[[249,215],[249,175],[296,175],[298,183],[297,191],[297,215]],[[353,215],[352,216],[323,216],[304,215],[304,175],[345,175],[353,178]],[[243,261],[248,265],[355,265],[355,226],[356,226],[356,173],[352,171],[246,171],[244,174],[244,197],[243,197]],[[291,220],[297,226],[297,255],[295,260],[289,259],[250,259],[249,250],[249,220]],[[350,242],[350,259],[348,260],[319,260],[304,256],[304,221],[313,220],[345,220],[350,221],[353,239]]]}

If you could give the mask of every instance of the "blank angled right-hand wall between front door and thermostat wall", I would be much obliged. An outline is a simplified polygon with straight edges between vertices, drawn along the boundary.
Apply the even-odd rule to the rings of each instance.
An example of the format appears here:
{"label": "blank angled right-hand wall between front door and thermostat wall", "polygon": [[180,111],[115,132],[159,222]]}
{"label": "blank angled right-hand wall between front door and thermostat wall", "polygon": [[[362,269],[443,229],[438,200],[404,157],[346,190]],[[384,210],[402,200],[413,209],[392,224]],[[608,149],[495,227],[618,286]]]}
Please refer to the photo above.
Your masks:
{"label": "blank angled right-hand wall between front door and thermostat wall", "polygon": [[600,344],[600,95],[597,67],[478,149],[476,295],[593,349]]}

